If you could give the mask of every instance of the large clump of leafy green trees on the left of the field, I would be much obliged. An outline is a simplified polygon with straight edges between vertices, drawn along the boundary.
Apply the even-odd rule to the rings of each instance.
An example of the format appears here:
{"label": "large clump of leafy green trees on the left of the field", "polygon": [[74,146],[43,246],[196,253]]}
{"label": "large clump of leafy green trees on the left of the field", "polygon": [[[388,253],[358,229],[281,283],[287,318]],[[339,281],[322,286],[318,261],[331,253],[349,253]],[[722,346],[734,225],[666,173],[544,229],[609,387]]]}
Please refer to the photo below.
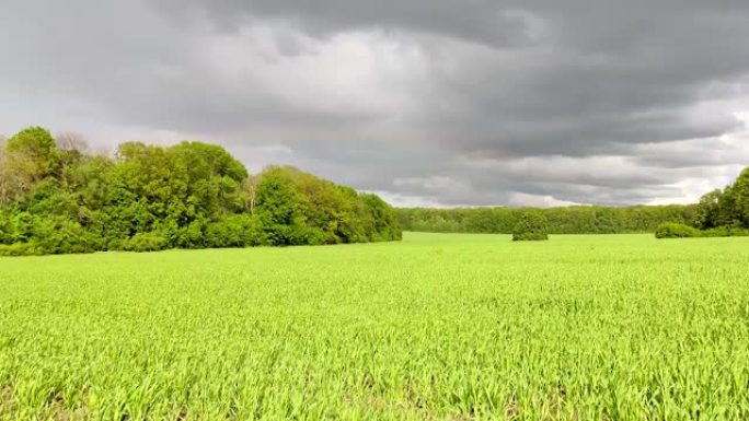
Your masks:
{"label": "large clump of leafy green trees on the left of the field", "polygon": [[127,142],[105,156],[41,127],[0,140],[0,255],[400,238],[378,196],[290,166],[250,175],[215,144]]}

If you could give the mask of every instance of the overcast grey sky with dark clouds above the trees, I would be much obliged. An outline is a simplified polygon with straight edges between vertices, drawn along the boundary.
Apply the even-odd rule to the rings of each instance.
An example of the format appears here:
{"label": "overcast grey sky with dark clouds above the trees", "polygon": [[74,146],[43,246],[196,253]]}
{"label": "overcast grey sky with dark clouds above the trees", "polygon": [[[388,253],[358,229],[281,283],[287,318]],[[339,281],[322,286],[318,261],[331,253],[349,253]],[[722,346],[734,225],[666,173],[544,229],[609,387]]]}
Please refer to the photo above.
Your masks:
{"label": "overcast grey sky with dark clouds above the trees", "polygon": [[30,125],[399,206],[691,201],[749,165],[749,1],[0,0]]}

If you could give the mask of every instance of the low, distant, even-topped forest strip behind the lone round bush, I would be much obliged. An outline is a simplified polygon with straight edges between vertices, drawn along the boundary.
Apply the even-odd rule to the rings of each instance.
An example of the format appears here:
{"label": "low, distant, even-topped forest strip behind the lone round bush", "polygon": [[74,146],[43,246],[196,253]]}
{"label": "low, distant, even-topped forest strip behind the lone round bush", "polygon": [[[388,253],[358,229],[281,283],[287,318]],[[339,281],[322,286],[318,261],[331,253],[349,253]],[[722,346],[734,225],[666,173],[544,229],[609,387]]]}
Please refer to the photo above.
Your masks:
{"label": "low, distant, even-topped forest strip behind the lone round bush", "polygon": [[695,212],[694,204],[395,209],[399,223],[405,231],[485,234],[511,234],[528,214],[542,217],[549,234],[652,233],[665,222],[689,223]]}

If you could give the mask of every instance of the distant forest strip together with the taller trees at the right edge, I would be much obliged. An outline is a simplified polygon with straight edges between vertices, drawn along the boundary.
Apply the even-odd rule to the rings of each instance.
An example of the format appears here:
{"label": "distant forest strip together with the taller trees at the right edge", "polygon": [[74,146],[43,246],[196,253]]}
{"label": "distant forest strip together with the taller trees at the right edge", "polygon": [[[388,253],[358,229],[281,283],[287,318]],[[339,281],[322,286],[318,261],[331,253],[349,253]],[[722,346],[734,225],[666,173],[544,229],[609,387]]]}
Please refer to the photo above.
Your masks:
{"label": "distant forest strip together with the taller trees at the right edge", "polygon": [[[462,208],[395,210],[405,231],[509,234],[523,214],[540,212],[550,234],[653,233],[664,224],[691,227],[706,236],[747,235],[749,168],[725,189],[704,195],[695,204],[576,206],[567,208]],[[687,236],[687,235],[684,235]]]}

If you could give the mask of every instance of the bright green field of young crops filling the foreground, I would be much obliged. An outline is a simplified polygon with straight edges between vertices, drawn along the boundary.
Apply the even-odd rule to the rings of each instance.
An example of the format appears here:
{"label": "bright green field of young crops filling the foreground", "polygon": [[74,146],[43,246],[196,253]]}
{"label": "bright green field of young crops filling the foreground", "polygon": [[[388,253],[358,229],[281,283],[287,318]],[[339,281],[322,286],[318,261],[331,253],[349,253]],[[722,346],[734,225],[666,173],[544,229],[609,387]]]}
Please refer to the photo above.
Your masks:
{"label": "bright green field of young crops filling the foreground", "polygon": [[0,419],[740,420],[749,238],[0,258]]}

